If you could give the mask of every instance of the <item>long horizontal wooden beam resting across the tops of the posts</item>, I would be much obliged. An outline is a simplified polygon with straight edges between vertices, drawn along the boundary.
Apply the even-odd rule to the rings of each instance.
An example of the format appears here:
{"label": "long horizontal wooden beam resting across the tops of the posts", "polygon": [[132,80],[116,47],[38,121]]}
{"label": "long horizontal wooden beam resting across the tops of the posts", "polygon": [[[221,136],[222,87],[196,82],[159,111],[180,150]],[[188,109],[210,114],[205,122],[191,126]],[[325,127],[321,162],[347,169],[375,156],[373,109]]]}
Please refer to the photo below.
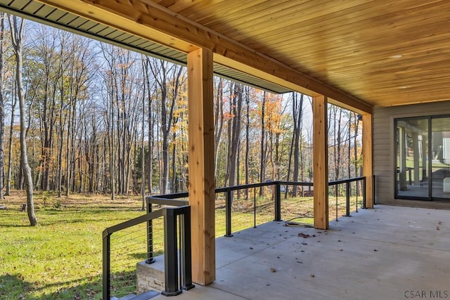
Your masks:
{"label": "long horizontal wooden beam resting across the tops of the posts", "polygon": [[309,96],[326,95],[342,107],[372,113],[373,107],[347,93],[309,77],[264,53],[149,0],[37,0],[101,22],[138,37],[190,52],[195,47],[210,49],[214,61],[235,70],[254,74]]}

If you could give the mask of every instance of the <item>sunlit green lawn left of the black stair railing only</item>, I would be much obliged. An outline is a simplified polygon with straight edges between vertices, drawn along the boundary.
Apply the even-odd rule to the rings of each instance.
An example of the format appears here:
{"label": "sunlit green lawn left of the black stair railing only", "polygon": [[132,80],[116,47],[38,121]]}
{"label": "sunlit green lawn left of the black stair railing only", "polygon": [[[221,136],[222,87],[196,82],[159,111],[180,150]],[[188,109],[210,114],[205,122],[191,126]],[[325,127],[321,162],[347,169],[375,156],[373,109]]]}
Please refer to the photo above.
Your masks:
{"label": "sunlit green lawn left of the black stair railing only", "polygon": [[77,196],[44,206],[37,196],[36,227],[20,211],[23,199],[2,202],[0,299],[100,299],[101,233],[143,214],[139,199]]}

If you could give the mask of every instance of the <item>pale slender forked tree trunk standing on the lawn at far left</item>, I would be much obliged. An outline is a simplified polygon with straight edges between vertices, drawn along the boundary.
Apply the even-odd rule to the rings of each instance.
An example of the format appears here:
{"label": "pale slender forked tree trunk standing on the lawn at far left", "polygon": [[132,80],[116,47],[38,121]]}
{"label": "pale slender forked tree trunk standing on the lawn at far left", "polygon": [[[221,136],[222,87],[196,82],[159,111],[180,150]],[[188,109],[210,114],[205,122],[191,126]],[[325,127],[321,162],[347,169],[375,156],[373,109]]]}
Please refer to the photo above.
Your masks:
{"label": "pale slender forked tree trunk standing on the lawn at far left", "polygon": [[15,52],[15,77],[18,88],[18,99],[20,107],[20,165],[25,175],[25,185],[27,188],[27,213],[31,226],[37,225],[36,215],[34,214],[33,201],[33,181],[31,176],[31,169],[28,165],[27,157],[27,141],[25,136],[25,98],[23,96],[23,82],[22,82],[22,43],[23,43],[23,29],[25,27],[25,20],[18,24],[18,17],[10,16],[9,25],[11,28],[11,40]]}

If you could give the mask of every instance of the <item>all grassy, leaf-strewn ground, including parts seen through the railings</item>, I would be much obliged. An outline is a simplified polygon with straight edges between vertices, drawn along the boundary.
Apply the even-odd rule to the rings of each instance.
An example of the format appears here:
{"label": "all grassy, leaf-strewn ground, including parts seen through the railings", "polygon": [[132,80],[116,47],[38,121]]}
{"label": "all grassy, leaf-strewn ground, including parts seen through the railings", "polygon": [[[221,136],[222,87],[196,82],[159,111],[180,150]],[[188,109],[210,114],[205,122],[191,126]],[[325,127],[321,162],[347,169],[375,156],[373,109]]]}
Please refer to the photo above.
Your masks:
{"label": "all grassy, leaf-strewn ground, including parts seen through the railings", "polygon": [[[222,198],[219,195],[216,201],[217,237],[225,234]],[[342,199],[338,201],[338,216],[345,214]],[[109,226],[141,216],[141,197],[118,196],[110,200],[107,195],[70,195],[58,198],[52,193],[38,192],[34,195],[38,219],[35,227],[30,227],[27,212],[21,211],[25,203],[26,196],[21,191],[14,191],[0,200],[0,207],[6,207],[0,209],[0,299],[101,299],[102,232]],[[312,197],[288,197],[282,200],[282,218],[311,224],[312,207]],[[334,217],[335,202],[330,198],[330,219]],[[233,233],[273,219],[271,196],[264,199],[249,195],[233,200]],[[155,252],[160,253],[162,226],[158,222],[153,226],[154,231],[161,231],[153,236]],[[141,233],[138,237],[141,249],[133,252],[127,248],[127,256],[118,258],[120,266],[125,260],[132,269],[136,262],[145,258],[145,229]],[[122,248],[118,248],[118,252],[122,252]]]}

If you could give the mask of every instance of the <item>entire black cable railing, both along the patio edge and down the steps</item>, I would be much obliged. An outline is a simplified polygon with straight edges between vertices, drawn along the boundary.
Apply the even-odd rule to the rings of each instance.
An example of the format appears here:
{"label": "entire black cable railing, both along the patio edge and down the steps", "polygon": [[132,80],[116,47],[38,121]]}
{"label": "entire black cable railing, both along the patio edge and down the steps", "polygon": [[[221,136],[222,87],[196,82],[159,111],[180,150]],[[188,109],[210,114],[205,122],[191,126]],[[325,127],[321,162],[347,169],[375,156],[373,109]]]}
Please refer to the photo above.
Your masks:
{"label": "entire black cable railing, both along the patio edge and down the steps", "polygon": [[[334,212],[336,220],[340,215],[350,216],[352,207],[356,211],[359,207],[366,208],[366,177],[330,181],[328,187],[329,216]],[[216,236],[231,237],[237,231],[257,227],[269,221],[282,221],[283,218],[285,221],[307,220],[305,224],[309,223],[310,226],[314,222],[314,190],[311,182],[266,181],[217,188],[215,193]],[[118,286],[127,287],[125,279],[119,285],[112,285],[112,278],[128,276],[126,279],[130,288],[125,288],[126,292],[136,285],[133,283],[136,277],[131,275],[131,271],[117,271],[111,276],[111,236],[121,230],[143,224],[146,225],[146,230],[135,230],[141,233],[139,237],[125,236],[129,236],[129,240],[133,242],[136,241],[136,244],[145,244],[146,255],[141,254],[139,257],[145,259],[146,264],[150,264],[155,262],[156,256],[162,254],[160,241],[164,234],[165,290],[162,294],[174,296],[181,293],[182,289],[193,287],[191,214],[187,197],[188,193],[148,196],[145,215],[103,231],[103,299],[110,299],[111,291],[117,294]],[[298,209],[300,206],[302,208]],[[162,217],[164,222],[161,221]],[[128,248],[119,251],[130,252]]]}

